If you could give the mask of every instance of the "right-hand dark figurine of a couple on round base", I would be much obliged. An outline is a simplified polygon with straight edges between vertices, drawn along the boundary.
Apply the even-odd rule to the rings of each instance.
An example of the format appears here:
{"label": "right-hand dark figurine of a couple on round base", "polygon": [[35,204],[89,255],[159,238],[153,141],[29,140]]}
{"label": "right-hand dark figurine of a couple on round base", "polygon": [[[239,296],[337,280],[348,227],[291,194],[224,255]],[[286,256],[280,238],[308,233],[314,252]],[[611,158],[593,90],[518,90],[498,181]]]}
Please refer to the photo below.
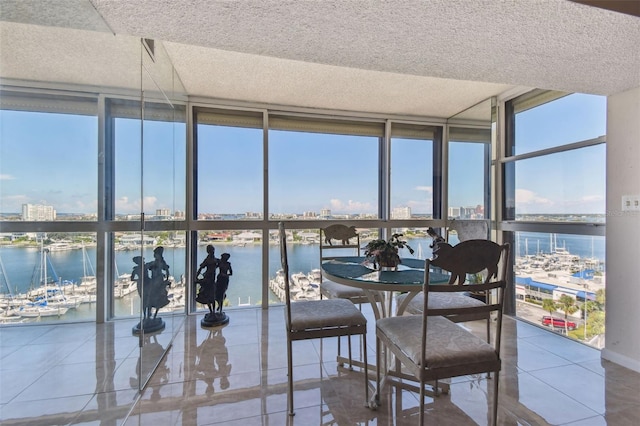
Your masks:
{"label": "right-hand dark figurine of a couple on round base", "polygon": [[[196,302],[207,305],[209,313],[200,321],[203,327],[214,327],[229,322],[229,317],[222,312],[225,293],[229,286],[229,275],[233,272],[228,262],[229,254],[224,253],[223,259],[215,256],[215,248],[207,246],[207,257],[202,261],[196,272],[196,284],[200,284],[200,291],[196,295]],[[216,280],[216,269],[220,270]],[[203,272],[204,271],[204,272]],[[218,307],[216,309],[216,303]]]}

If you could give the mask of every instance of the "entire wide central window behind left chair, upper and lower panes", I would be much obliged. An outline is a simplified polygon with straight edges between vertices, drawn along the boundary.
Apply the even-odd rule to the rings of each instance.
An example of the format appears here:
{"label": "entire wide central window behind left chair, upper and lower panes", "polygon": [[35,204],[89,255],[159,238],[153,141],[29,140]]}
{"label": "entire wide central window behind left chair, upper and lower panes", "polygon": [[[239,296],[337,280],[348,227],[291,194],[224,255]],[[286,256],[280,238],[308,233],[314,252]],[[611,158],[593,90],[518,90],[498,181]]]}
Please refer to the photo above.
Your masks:
{"label": "entire wide central window behind left chair, upper and lower panes", "polygon": [[[289,268],[295,298],[319,298],[322,222],[359,221],[361,238],[377,233],[364,223],[380,217],[383,136],[383,122],[269,116],[268,215],[272,222],[291,223]],[[280,300],[281,272],[275,245],[269,250],[269,285]]]}

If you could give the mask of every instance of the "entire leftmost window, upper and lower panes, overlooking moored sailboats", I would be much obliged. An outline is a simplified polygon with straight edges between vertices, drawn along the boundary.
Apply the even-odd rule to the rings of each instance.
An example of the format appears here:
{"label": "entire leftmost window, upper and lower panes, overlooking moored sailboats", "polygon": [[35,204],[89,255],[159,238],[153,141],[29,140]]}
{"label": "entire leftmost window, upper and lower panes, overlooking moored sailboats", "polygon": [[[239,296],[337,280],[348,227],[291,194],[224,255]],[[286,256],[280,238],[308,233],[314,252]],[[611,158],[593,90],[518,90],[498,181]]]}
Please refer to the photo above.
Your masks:
{"label": "entire leftmost window, upper and lower panes, overlooking moored sailboats", "polygon": [[97,100],[1,96],[0,212],[17,226],[0,233],[3,321],[92,320]]}

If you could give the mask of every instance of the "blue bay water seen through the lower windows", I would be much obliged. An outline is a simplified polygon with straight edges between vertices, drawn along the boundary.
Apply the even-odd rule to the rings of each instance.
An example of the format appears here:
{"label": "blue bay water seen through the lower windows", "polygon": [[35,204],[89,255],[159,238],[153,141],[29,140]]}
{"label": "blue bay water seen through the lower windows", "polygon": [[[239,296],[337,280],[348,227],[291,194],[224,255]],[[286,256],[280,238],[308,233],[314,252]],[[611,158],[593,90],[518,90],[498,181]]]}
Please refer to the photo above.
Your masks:
{"label": "blue bay water seen through the lower windows", "polygon": [[[432,256],[429,247],[432,240],[430,238],[408,239],[409,245],[415,250],[414,255],[408,251],[401,252],[404,257],[427,258]],[[453,236],[452,244],[455,244]],[[365,243],[362,245],[364,246]],[[537,252],[549,253],[552,246],[564,247],[571,254],[580,257],[595,257],[604,264],[604,238],[581,235],[561,235],[552,236],[541,233],[518,233],[516,250],[518,256],[525,254],[533,255]],[[214,244],[216,257],[222,253],[229,253],[233,276],[230,277],[227,299],[230,305],[239,304],[257,305],[262,301],[261,273],[262,258],[261,244],[247,244],[237,246],[231,244]],[[153,259],[153,248],[145,250],[146,261]],[[289,244],[289,271],[309,272],[319,267],[319,246],[318,244]],[[345,253],[346,255],[347,253]],[[352,253],[348,253],[352,254]],[[133,257],[139,255],[135,251],[117,251],[116,264],[119,274],[130,274],[133,267]],[[198,246],[198,264],[207,256],[206,246]],[[21,248],[11,246],[0,247],[0,259],[4,266],[6,276],[0,277],[0,292],[8,293],[8,286],[14,294],[25,293],[30,289],[39,286],[40,282],[40,257],[39,248]],[[83,249],[73,249],[64,251],[53,251],[49,253],[49,258],[53,269],[47,272],[47,276],[55,276],[62,281],[80,282],[83,275],[94,275],[92,268],[96,264],[95,247]],[[164,250],[165,261],[170,266],[170,274],[176,281],[185,275],[185,248],[166,247]],[[269,277],[275,276],[280,269],[279,246],[272,244],[269,246]],[[86,271],[86,272],[85,272]],[[269,300],[279,302],[278,298],[269,292]],[[116,316],[137,315],[139,309],[139,297],[137,293],[130,296],[116,299]],[[95,318],[95,307],[93,304],[83,304],[76,310],[69,310],[65,319],[93,319]]]}

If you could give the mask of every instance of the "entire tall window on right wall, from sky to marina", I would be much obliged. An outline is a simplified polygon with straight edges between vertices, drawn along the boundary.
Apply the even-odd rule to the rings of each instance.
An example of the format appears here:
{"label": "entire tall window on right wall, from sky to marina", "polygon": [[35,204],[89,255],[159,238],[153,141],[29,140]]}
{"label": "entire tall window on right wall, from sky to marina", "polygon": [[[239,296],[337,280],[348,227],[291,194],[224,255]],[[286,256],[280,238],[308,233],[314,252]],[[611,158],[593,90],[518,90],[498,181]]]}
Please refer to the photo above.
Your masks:
{"label": "entire tall window on right wall, from sky to marina", "polygon": [[534,91],[505,109],[516,314],[602,347],[606,98]]}

